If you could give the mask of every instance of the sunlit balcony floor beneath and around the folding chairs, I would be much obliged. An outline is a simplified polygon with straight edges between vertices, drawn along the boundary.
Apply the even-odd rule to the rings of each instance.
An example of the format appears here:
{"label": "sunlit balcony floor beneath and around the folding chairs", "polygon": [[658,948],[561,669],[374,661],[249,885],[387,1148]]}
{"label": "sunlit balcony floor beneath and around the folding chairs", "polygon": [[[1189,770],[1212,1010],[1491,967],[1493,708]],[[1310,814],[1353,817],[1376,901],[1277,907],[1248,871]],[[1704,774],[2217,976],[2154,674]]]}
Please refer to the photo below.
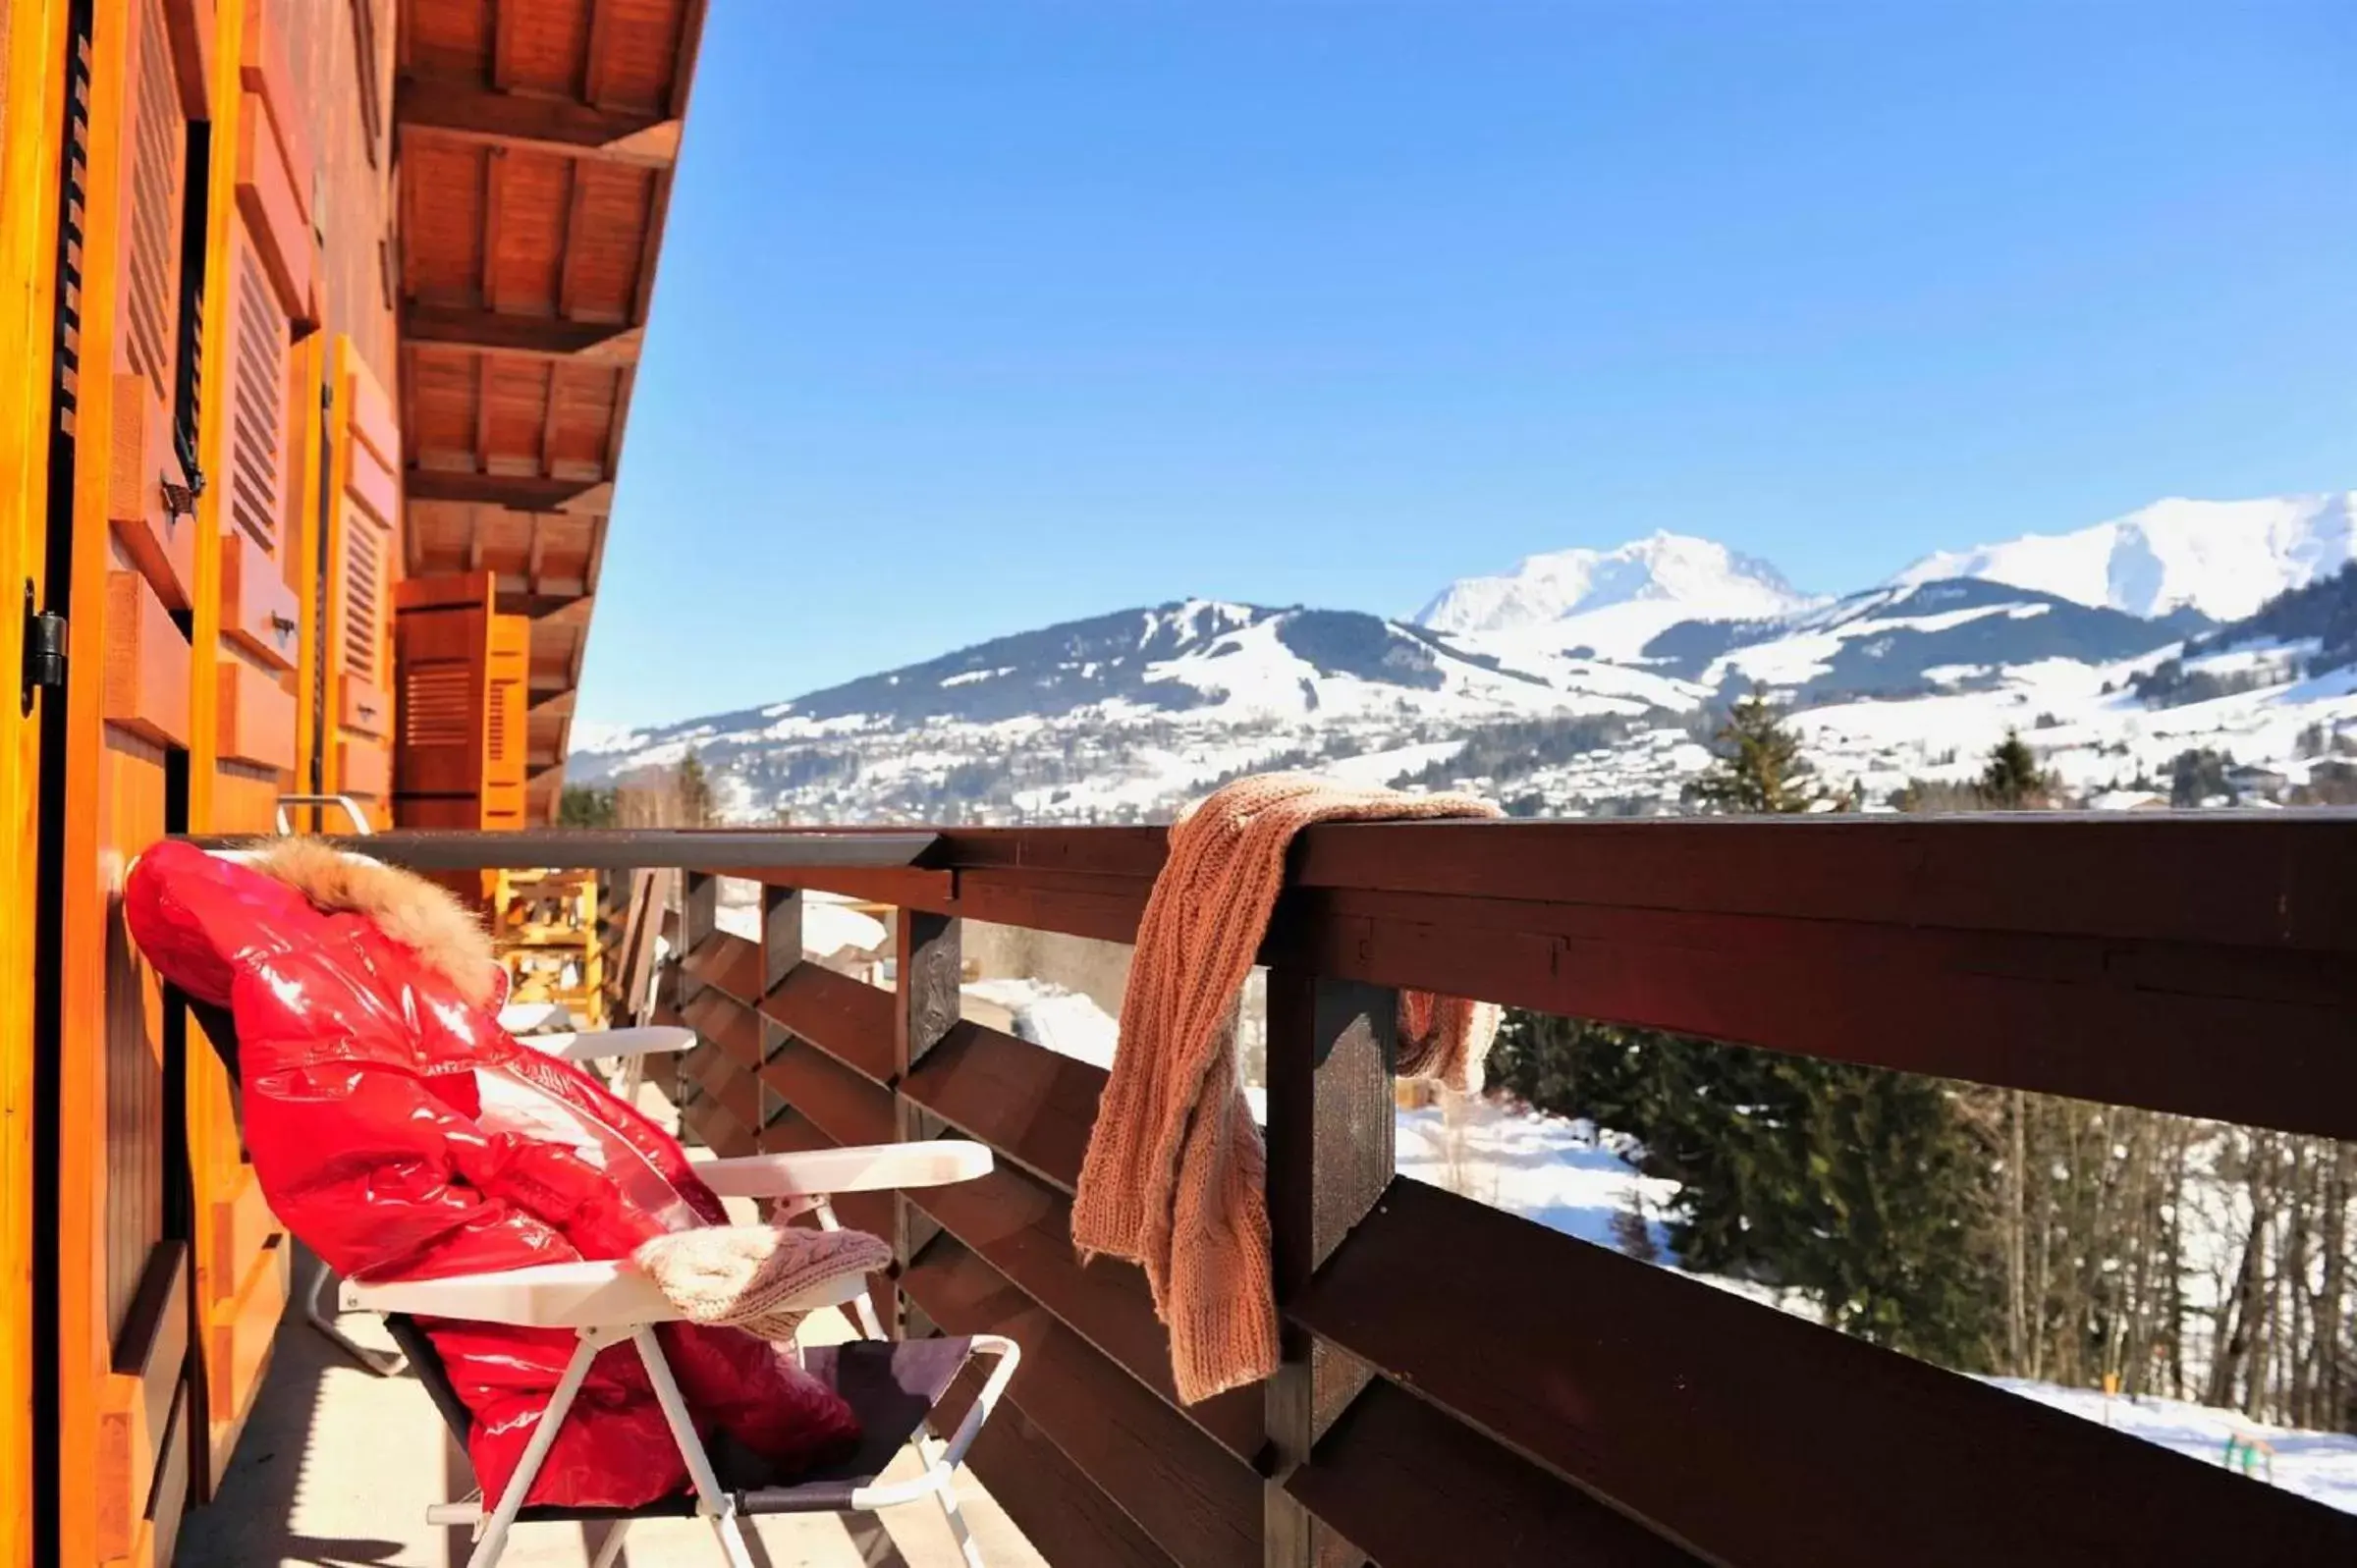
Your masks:
{"label": "sunlit balcony floor beneath and around the folding chairs", "polygon": [[[662,1120],[669,1106],[648,1089],[646,1108]],[[731,1210],[738,1205],[731,1203]],[[750,1205],[747,1205],[750,1210]],[[742,1214],[752,1219],[752,1214]],[[460,1568],[464,1530],[436,1530],[424,1511],[464,1497],[467,1467],[412,1377],[372,1377],[302,1320],[302,1290],[316,1264],[295,1257],[295,1297],[278,1325],[271,1370],[255,1415],[238,1438],[222,1495],[189,1514],[174,1568]],[[344,1330],[391,1349],[382,1325],[356,1313]],[[813,1316],[804,1330],[827,1344],[851,1337],[839,1313]],[[898,1478],[915,1469],[900,1455]],[[990,1568],[1042,1568],[1044,1559],[1009,1523],[971,1474],[957,1478],[959,1507]],[[768,1568],[957,1568],[962,1561],[940,1509],[931,1502],[860,1518],[759,1518],[754,1563]],[[502,1568],[585,1568],[603,1526],[519,1526]],[[681,1568],[712,1563],[719,1544],[693,1518],[632,1526],[625,1566]]]}

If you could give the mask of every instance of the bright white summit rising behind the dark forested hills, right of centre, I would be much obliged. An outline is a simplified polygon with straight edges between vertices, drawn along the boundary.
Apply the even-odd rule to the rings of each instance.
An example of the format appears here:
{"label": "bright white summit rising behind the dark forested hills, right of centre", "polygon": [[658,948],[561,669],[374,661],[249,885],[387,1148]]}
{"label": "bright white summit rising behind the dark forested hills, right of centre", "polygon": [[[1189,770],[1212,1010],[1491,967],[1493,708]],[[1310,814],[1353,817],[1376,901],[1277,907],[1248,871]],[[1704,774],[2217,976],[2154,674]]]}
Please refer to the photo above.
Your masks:
{"label": "bright white summit rising behind the dark forested hills, right of centre", "polygon": [[1494,578],[1461,578],[1424,606],[1435,632],[1518,632],[1617,604],[1669,604],[1690,620],[1758,620],[1810,599],[1768,561],[1714,540],[1652,533],[1617,549],[1553,549]]}

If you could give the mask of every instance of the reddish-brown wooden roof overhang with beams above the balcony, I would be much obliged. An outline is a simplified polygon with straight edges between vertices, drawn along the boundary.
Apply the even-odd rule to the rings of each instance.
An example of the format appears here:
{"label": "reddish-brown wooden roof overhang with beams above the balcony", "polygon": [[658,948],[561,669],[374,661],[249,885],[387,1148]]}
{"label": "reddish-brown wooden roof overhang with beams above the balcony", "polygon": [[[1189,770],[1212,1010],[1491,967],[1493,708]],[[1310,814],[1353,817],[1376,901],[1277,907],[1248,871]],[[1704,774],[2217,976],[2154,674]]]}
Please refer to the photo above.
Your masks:
{"label": "reddish-brown wooden roof overhang with beams above the balcony", "polygon": [[705,0],[403,0],[410,575],[533,618],[530,804],[554,813]]}

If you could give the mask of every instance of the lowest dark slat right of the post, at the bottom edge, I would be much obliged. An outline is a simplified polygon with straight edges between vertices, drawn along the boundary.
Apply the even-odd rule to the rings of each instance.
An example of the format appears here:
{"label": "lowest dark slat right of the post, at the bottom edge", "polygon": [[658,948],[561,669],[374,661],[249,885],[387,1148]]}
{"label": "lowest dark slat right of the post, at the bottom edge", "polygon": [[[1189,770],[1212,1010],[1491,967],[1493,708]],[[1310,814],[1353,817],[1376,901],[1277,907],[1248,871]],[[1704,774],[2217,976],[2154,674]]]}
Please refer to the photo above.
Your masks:
{"label": "lowest dark slat right of the post, at the bottom edge", "polygon": [[1358,1396],[1285,1490],[1384,1568],[1699,1568],[1386,1382]]}

